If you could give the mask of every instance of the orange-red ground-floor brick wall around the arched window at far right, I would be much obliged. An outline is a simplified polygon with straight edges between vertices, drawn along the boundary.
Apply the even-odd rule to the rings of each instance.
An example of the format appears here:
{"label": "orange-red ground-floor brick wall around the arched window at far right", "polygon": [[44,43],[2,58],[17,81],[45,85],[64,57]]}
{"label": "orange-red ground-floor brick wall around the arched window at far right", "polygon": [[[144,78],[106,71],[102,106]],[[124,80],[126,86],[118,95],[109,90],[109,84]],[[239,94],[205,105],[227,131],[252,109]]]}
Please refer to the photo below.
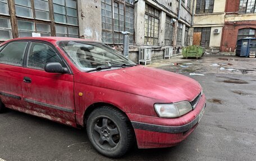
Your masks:
{"label": "orange-red ground-floor brick wall around the arched window at far right", "polygon": [[239,29],[253,28],[256,29],[255,21],[236,21],[236,22],[225,22],[223,27],[221,51],[234,52],[236,49],[237,34]]}

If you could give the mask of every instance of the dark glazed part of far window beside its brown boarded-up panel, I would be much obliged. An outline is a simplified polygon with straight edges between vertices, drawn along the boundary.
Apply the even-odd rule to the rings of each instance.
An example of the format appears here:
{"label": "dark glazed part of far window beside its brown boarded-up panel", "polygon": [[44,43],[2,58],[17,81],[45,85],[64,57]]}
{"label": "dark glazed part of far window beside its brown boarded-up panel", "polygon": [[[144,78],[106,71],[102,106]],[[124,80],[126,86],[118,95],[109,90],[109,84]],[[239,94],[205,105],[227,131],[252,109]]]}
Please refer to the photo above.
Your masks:
{"label": "dark glazed part of far window beside its brown boarded-up panel", "polygon": [[209,47],[211,38],[211,27],[195,27],[194,33],[201,34],[200,46]]}

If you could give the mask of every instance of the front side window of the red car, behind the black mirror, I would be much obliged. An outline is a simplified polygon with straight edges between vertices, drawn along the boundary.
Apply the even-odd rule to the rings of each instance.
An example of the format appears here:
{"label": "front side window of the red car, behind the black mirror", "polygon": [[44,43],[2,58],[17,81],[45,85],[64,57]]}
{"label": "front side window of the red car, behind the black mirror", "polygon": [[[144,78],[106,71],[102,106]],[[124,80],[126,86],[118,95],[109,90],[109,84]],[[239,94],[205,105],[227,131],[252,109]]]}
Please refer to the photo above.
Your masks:
{"label": "front side window of the red car, behind the black mirror", "polygon": [[28,67],[44,70],[44,66],[49,62],[59,62],[63,65],[62,59],[47,44],[31,43],[30,53],[28,56]]}

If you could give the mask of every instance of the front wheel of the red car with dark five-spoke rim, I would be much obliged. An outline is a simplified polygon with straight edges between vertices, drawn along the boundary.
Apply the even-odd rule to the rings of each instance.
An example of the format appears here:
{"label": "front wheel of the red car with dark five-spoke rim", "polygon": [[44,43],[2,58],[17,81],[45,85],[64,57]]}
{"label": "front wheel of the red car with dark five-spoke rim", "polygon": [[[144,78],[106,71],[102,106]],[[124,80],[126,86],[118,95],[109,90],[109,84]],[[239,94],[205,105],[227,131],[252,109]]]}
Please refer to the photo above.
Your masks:
{"label": "front wheel of the red car with dark five-spoke rim", "polygon": [[129,119],[111,106],[103,106],[90,113],[86,130],[94,148],[106,157],[121,157],[135,142]]}

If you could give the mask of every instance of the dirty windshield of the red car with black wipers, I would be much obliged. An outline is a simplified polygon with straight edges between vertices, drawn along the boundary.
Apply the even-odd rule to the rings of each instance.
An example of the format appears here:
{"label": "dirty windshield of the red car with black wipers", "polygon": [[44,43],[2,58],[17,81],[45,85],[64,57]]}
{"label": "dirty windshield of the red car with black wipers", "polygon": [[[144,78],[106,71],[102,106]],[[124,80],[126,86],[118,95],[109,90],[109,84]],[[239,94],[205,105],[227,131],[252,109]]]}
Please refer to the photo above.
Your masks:
{"label": "dirty windshield of the red car with black wipers", "polygon": [[61,41],[58,45],[83,71],[103,70],[136,64],[105,44],[85,41]]}

